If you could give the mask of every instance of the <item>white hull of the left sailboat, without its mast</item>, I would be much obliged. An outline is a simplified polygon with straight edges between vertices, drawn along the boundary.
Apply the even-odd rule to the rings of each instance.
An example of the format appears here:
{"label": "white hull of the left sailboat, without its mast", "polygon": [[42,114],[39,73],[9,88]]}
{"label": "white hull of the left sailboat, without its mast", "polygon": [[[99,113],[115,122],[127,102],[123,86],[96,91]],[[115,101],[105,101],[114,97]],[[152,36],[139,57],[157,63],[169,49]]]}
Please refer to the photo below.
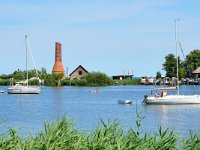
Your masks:
{"label": "white hull of the left sailboat, without its mast", "polygon": [[33,86],[28,86],[28,87],[9,87],[8,88],[8,94],[39,94],[41,91],[40,87],[33,87]]}

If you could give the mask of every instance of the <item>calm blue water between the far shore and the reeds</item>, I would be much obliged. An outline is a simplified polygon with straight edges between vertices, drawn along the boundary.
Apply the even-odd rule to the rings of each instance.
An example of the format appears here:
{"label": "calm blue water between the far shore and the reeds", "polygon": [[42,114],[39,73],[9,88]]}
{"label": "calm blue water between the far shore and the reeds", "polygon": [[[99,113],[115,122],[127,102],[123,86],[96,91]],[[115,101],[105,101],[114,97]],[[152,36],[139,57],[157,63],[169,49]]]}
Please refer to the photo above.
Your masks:
{"label": "calm blue water between the far shore and the reeds", "polygon": [[[157,86],[158,87],[158,86]],[[43,87],[39,95],[0,94],[1,131],[10,127],[22,133],[43,130],[45,121],[55,121],[67,115],[76,127],[90,131],[103,120],[117,119],[125,129],[136,128],[136,103],[143,110],[143,129],[156,132],[159,125],[189,134],[189,129],[200,129],[200,105],[143,105],[144,93],[150,94],[153,86],[100,87],[99,94],[90,93],[92,87]],[[7,90],[7,87],[0,87]],[[180,93],[200,93],[200,86],[181,86]],[[119,99],[131,99],[132,105],[119,105]]]}

